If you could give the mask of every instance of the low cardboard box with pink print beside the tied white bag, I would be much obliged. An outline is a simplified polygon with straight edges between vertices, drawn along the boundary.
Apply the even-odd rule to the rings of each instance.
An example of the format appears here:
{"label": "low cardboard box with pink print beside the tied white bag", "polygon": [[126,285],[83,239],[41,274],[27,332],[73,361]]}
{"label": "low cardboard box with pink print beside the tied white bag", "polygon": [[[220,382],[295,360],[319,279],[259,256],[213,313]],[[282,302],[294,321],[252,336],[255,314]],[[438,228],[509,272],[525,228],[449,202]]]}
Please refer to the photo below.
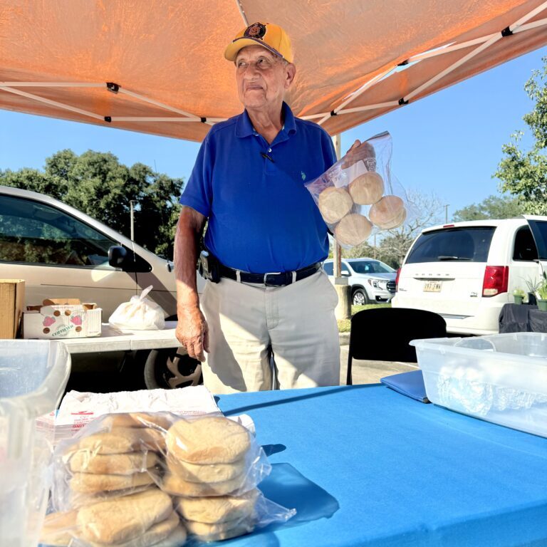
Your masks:
{"label": "low cardboard box with pink print beside the tied white bag", "polygon": [[23,338],[88,338],[100,336],[103,310],[77,298],[51,298],[27,306],[23,313]]}

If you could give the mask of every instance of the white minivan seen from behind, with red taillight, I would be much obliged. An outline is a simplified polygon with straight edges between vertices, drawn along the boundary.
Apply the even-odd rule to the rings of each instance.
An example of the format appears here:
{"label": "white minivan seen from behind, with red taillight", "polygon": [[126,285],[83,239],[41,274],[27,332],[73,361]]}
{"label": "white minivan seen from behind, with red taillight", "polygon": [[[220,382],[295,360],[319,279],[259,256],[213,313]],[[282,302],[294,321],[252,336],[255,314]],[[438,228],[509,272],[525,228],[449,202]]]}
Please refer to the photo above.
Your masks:
{"label": "white minivan seen from behind, with red taillight", "polygon": [[449,333],[491,334],[513,291],[547,271],[547,217],[457,222],[425,229],[397,273],[394,308],[434,311]]}

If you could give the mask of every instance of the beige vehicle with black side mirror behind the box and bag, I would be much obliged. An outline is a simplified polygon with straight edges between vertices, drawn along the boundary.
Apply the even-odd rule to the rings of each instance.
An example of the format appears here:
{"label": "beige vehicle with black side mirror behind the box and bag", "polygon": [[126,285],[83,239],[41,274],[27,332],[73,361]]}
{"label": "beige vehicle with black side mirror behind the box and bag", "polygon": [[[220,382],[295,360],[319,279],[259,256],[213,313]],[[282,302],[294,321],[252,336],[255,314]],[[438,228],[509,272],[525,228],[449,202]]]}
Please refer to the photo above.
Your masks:
{"label": "beige vehicle with black side mirror behind the box and bag", "polygon": [[[177,313],[172,262],[52,197],[6,186],[0,186],[0,278],[24,279],[26,304],[95,302],[103,321],[152,285],[150,297],[167,316]],[[200,276],[198,283],[201,289]]]}

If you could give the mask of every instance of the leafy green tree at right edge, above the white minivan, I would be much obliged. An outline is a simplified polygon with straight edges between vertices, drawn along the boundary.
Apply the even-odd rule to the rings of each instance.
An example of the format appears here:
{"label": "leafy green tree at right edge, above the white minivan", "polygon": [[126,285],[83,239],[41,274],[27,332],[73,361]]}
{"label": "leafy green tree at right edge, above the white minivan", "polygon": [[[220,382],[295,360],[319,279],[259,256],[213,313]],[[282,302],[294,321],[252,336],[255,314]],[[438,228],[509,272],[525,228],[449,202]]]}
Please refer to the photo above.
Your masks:
{"label": "leafy green tree at right edge, above the white minivan", "polygon": [[528,97],[535,102],[533,110],[523,116],[535,139],[531,150],[519,149],[523,132],[511,135],[513,142],[504,145],[504,159],[495,175],[501,179],[501,189],[519,196],[523,211],[531,214],[547,214],[547,57],[543,68],[533,71],[524,85]]}

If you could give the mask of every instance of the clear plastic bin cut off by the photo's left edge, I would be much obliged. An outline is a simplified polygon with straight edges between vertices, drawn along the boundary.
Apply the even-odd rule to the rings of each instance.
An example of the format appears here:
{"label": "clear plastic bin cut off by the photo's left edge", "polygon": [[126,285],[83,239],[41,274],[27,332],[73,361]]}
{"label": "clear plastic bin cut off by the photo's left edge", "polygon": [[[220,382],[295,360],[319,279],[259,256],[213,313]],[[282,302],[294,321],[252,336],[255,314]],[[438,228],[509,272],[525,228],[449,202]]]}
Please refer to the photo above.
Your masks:
{"label": "clear plastic bin cut off by the photo's left edge", "polygon": [[38,543],[53,444],[53,422],[47,417],[63,395],[70,370],[63,343],[0,340],[1,547]]}

